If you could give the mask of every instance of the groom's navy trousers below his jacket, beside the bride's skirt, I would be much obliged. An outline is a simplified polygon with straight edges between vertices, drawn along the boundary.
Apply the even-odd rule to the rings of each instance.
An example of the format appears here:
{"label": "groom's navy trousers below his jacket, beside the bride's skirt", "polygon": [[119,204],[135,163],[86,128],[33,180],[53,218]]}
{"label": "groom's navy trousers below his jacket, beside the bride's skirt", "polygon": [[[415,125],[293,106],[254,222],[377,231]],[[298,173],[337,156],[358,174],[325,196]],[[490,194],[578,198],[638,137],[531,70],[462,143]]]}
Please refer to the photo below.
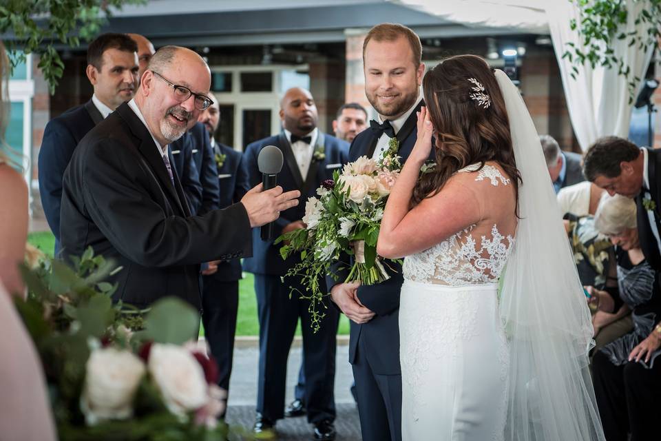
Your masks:
{"label": "groom's navy trousers below his jacket, beside the bride's skirt", "polygon": [[374,373],[358,340],[353,363],[363,441],[401,441],[401,374]]}

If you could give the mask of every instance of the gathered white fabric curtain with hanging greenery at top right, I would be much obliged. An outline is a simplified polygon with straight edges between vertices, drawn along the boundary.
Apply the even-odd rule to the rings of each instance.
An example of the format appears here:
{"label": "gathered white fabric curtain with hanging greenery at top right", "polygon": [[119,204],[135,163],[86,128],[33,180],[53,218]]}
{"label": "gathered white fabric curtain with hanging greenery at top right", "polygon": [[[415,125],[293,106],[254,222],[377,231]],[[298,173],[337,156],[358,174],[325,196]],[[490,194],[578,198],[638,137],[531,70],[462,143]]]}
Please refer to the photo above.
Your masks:
{"label": "gathered white fabric curtain with hanging greenery at top right", "polygon": [[[634,20],[647,1],[628,1],[627,27],[618,32],[636,30]],[[553,8],[547,9],[549,30],[560,66],[560,75],[565,88],[565,99],[569,108],[571,125],[574,127],[576,139],[580,148],[587,148],[601,136],[615,135],[627,138],[631,122],[633,103],[629,104],[629,89],[625,76],[618,75],[616,68],[596,66],[592,69],[589,63],[578,66],[576,79],[571,78],[571,63],[563,59],[567,43],[572,42],[580,50],[585,51],[583,42],[576,31],[569,28],[569,20],[576,18],[580,22],[578,10],[574,3],[558,1]],[[639,26],[638,32],[642,35]],[[631,68],[631,79],[634,76],[644,77],[645,70],[652,56],[653,46],[648,50],[639,50],[638,45],[629,47],[629,39],[615,40],[611,48],[616,57],[620,57],[625,65]],[[642,84],[642,83],[641,83]]]}

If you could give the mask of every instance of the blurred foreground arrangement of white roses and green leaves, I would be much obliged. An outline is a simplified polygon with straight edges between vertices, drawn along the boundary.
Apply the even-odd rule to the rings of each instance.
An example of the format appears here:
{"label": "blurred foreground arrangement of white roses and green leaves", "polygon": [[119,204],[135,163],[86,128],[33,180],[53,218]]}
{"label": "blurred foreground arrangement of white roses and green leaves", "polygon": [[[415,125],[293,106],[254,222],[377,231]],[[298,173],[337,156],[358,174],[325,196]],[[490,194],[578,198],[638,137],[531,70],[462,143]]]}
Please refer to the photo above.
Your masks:
{"label": "blurred foreground arrangement of white roses and green leaves", "polygon": [[91,249],[70,269],[23,269],[17,309],[43,363],[61,440],[227,440],[218,367],[198,349],[199,316],[164,298],[113,305],[112,264]]}

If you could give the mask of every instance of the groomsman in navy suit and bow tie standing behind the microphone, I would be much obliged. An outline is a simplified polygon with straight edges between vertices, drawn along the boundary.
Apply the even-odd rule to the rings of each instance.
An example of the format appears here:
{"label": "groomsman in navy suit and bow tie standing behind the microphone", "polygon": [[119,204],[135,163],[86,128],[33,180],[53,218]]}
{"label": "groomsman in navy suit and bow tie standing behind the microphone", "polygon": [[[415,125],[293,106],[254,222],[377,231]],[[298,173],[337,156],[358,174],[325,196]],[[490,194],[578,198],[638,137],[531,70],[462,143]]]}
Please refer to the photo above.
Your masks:
{"label": "groomsman in navy suit and bow tie standing behind the microphone", "polygon": [[[300,206],[280,213],[280,218],[275,222],[276,236],[304,227],[304,201],[315,196],[317,187],[326,179],[333,178],[333,172],[346,163],[348,143],[322,133],[317,128],[317,118],[317,107],[310,92],[301,88],[287,90],[280,101],[280,119],[284,130],[246,147],[244,166],[251,186],[262,180],[257,163],[260,150],[266,145],[275,145],[284,156],[282,172],[277,176],[278,185],[284,191],[301,191]],[[299,291],[306,291],[300,278],[281,280],[299,260],[296,256],[282,260],[280,246],[273,245],[273,240],[262,240],[260,229],[253,229],[253,258],[244,260],[244,269],[255,274],[260,321],[260,366],[254,430],[262,436],[275,436],[275,422],[284,416],[287,357],[300,318],[308,422],[315,426],[315,439],[333,440],[335,336],[339,314],[334,308],[326,309],[321,329],[316,334],[313,332],[309,302],[299,298],[298,294]],[[290,287],[294,287],[294,291]]]}

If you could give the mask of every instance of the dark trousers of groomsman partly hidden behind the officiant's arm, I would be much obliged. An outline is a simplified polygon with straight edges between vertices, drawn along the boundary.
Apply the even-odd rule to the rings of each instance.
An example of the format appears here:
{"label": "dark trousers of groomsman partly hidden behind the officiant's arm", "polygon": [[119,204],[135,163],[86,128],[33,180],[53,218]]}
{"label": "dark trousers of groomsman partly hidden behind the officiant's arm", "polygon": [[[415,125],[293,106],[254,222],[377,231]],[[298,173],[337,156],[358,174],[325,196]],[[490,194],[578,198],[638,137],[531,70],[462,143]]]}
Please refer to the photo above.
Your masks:
{"label": "dark trousers of groomsman partly hidden behind the officiant's arm", "polygon": [[232,373],[236,312],[239,307],[239,282],[223,282],[204,276],[202,323],[211,355],[218,363],[218,386],[229,391]]}

